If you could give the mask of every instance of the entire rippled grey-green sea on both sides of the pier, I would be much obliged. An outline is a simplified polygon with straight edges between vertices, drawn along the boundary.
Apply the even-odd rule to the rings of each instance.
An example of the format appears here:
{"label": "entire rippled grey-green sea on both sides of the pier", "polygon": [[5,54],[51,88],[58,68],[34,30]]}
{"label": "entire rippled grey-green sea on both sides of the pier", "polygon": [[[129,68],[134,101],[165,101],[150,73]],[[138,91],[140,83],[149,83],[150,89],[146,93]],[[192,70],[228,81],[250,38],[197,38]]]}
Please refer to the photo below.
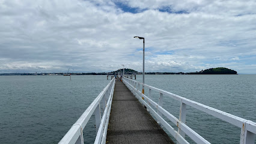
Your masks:
{"label": "entire rippled grey-green sea on both sides of the pier", "polygon": [[[0,76],[0,143],[58,143],[109,81],[106,76]],[[256,122],[256,74],[146,75],[145,83]],[[159,94],[153,97],[158,100]],[[178,118],[178,101],[164,97],[163,107]],[[85,127],[85,143],[94,142],[94,121],[92,116]],[[188,106],[186,121],[210,143],[239,143],[240,128],[200,110]]]}

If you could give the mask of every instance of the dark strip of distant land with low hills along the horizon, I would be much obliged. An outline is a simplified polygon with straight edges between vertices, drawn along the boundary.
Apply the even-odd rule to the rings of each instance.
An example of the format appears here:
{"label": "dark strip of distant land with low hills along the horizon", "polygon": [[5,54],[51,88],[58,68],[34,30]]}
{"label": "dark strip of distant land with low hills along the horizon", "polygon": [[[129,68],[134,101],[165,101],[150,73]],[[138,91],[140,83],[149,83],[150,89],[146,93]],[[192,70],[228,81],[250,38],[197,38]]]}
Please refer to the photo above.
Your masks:
{"label": "dark strip of distant land with low hills along the horizon", "polygon": [[[119,69],[116,71],[111,71],[110,73],[71,73],[71,75],[115,75],[118,73],[123,73],[123,69]],[[130,68],[124,68],[125,74],[142,74],[142,72],[138,72],[135,70],[132,70]],[[64,73],[0,73],[0,76],[46,76],[46,75],[63,75]],[[237,74],[237,71],[224,68],[224,67],[218,67],[218,68],[209,68],[207,70],[201,70],[196,72],[190,72],[190,73],[170,73],[170,72],[150,72],[145,74]]]}

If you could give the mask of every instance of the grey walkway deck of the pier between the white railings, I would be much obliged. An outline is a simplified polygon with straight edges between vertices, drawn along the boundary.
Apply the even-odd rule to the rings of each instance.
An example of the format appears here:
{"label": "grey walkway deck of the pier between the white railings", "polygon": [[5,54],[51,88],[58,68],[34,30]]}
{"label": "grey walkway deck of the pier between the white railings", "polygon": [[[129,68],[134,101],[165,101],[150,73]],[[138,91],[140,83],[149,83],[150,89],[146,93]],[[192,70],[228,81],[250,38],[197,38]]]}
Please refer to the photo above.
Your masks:
{"label": "grey walkway deck of the pier between the white railings", "polygon": [[106,143],[174,143],[123,82],[115,83]]}

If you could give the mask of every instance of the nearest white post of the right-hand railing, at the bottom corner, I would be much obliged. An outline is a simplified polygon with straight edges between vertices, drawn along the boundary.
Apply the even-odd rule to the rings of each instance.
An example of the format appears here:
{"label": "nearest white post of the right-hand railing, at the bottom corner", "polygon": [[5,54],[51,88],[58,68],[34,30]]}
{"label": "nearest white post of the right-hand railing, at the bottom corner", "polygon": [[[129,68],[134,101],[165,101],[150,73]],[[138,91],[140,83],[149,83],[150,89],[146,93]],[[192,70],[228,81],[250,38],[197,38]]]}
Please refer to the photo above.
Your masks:
{"label": "nearest white post of the right-hand railing, at the bottom corner", "polygon": [[246,122],[243,122],[240,135],[240,144],[254,144],[254,140],[255,134],[248,131],[246,128]]}

